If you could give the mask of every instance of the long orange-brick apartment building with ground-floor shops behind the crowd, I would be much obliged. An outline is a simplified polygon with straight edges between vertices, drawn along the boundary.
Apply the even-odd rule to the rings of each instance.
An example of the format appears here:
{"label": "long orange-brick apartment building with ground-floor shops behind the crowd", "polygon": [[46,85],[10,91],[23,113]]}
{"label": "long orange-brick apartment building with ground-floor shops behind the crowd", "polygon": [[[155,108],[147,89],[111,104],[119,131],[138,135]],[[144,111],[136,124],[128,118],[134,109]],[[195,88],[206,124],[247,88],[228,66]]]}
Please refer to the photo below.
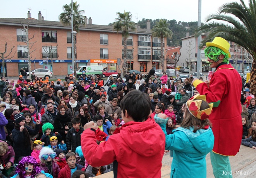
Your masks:
{"label": "long orange-brick apartment building with ground-floor shops behind the crowd", "polygon": [[[123,57],[123,40],[121,32],[113,31],[111,25],[96,25],[92,18],[85,19],[86,25],[80,25],[80,32],[76,34],[76,67],[82,65],[102,65],[107,70],[120,72],[121,66],[117,65],[117,59]],[[41,12],[38,19],[28,18],[0,19],[0,52],[5,50],[7,42],[7,54],[14,46],[14,57],[5,61],[6,76],[18,76],[21,68],[28,68],[28,50],[26,46],[26,33],[22,31],[22,24],[29,24],[29,42],[35,42],[30,49],[31,70],[36,68],[48,68],[54,75],[66,75],[72,73],[71,55],[71,25],[63,25],[58,21],[44,20]],[[152,68],[159,68],[160,39],[152,37],[150,22],[147,29],[137,26],[136,31],[130,31],[127,40],[128,67],[142,73],[149,72]],[[164,39],[166,48],[166,38]],[[49,52],[52,52],[53,66]],[[12,56],[12,54],[10,56]],[[121,60],[123,61],[123,60]],[[0,73],[3,67],[0,64]]]}

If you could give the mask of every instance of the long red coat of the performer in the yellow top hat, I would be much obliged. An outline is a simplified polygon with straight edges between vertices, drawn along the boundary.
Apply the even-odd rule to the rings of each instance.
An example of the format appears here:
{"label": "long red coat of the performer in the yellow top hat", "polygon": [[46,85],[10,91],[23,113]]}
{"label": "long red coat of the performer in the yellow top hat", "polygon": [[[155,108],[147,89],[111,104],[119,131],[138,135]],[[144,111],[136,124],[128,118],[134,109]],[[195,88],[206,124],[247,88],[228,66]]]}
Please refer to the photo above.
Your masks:
{"label": "long red coat of the performer in the yellow top hat", "polygon": [[213,111],[209,119],[214,134],[213,152],[234,156],[239,151],[242,137],[241,88],[239,73],[231,64],[223,64],[214,72],[211,83],[195,80],[193,85],[207,102],[213,102]]}

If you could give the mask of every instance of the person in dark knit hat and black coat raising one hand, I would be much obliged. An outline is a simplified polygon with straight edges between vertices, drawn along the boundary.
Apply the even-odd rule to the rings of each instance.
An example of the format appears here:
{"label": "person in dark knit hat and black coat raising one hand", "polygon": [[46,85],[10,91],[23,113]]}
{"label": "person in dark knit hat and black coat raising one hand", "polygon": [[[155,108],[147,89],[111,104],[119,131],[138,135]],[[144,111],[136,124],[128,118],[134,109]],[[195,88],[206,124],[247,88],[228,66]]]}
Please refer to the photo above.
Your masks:
{"label": "person in dark knit hat and black coat raising one hand", "polygon": [[14,115],[15,126],[12,130],[13,149],[15,152],[15,161],[18,162],[19,157],[29,156],[31,154],[31,139],[29,134],[36,135],[40,129],[40,120],[36,120],[35,129],[25,126],[25,117],[20,114]]}

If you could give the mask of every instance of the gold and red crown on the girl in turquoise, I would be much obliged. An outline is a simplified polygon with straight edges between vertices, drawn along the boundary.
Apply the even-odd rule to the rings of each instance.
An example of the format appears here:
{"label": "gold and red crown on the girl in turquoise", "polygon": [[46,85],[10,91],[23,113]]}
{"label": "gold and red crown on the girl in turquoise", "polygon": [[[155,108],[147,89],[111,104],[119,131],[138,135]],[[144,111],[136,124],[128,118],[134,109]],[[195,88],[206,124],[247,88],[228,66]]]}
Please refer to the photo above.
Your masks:
{"label": "gold and red crown on the girl in turquoise", "polygon": [[[197,99],[197,100],[195,100]],[[209,118],[209,115],[211,114],[211,111],[213,110],[213,103],[209,104],[209,108],[205,110],[200,110],[202,100],[206,101],[205,95],[197,94],[194,97],[191,97],[187,102],[187,108],[195,118],[204,120]]]}

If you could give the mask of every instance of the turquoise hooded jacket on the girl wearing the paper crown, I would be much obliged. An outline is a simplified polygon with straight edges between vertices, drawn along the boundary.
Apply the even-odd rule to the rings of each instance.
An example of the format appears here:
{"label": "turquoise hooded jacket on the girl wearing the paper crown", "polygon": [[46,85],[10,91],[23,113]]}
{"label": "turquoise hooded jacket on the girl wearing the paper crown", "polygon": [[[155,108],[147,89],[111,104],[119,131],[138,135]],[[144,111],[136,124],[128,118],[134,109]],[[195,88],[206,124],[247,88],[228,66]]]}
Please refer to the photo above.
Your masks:
{"label": "turquoise hooded jacket on the girl wearing the paper crown", "polygon": [[213,149],[214,136],[211,128],[185,129],[178,127],[173,134],[167,135],[166,122],[168,119],[154,117],[165,134],[165,149],[172,150],[170,155],[171,178],[206,177],[206,154]]}

